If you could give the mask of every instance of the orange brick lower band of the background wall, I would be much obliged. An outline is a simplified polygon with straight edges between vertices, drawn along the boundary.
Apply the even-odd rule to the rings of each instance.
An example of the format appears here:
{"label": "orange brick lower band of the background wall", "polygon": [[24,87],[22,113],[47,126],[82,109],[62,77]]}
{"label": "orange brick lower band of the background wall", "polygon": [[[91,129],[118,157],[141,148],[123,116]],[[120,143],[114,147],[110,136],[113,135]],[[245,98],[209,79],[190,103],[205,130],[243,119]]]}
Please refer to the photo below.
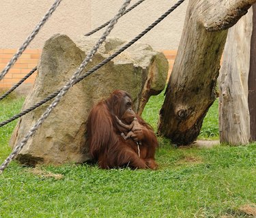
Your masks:
{"label": "orange brick lower band of the background wall", "polygon": [[[16,53],[15,49],[0,49],[0,72],[7,65],[13,55]],[[38,59],[41,54],[40,49],[31,49],[25,50],[23,55],[20,56],[18,61],[14,64],[14,66],[9,70],[8,74],[5,75],[3,80],[0,81],[0,89],[7,90],[10,89],[14,84],[16,84],[21,78],[26,76],[33,67],[38,65]],[[171,70],[173,69],[174,59],[176,57],[176,50],[163,50],[169,61],[169,73],[168,77],[171,74]],[[31,75],[24,83],[33,84],[35,80],[36,72]]]}

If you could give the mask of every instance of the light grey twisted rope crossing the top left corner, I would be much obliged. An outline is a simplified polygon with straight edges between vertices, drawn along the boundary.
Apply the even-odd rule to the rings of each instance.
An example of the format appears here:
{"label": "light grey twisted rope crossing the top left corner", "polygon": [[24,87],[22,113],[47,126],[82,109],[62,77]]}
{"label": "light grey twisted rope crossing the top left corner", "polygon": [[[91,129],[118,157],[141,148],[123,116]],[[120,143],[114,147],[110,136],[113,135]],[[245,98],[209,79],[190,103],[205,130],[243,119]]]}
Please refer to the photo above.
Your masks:
{"label": "light grey twisted rope crossing the top left corner", "polygon": [[12,57],[12,59],[10,60],[10,62],[6,65],[6,67],[3,69],[3,71],[0,73],[0,81],[3,79],[3,77],[5,76],[5,74],[8,73],[9,69],[12,67],[12,65],[14,65],[14,63],[17,61],[18,57],[20,57],[20,55],[23,54],[24,50],[27,48],[27,46],[29,45],[29,43],[33,40],[33,38],[35,37],[35,35],[38,34],[38,32],[40,31],[40,29],[42,28],[42,26],[44,25],[44,23],[46,22],[46,20],[48,20],[48,18],[51,16],[51,14],[53,14],[53,12],[56,10],[56,8],[59,6],[59,3],[62,0],[55,0],[55,3],[53,3],[52,7],[48,10],[48,12],[44,15],[44,18],[42,18],[42,20],[38,23],[38,25],[35,27],[35,29],[33,30],[33,32],[27,37],[27,40],[24,42],[24,44],[22,46],[20,46],[20,48],[18,49],[18,51],[16,52],[16,54]]}

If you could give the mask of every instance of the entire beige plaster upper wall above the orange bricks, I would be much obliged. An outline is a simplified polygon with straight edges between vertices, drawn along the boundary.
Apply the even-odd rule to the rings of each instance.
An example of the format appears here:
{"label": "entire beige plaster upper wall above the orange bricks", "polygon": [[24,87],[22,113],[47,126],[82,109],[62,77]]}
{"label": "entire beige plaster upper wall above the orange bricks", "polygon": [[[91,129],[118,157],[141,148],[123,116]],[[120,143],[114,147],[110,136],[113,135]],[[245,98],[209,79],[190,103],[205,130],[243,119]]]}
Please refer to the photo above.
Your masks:
{"label": "entire beige plaster upper wall above the orange bricks", "polygon": [[[53,0],[1,0],[0,48],[18,48],[40,22]],[[83,35],[112,18],[124,1],[121,0],[68,0],[61,1],[29,48],[42,48],[54,33],[71,38]],[[131,1],[130,5],[136,1]],[[177,0],[146,0],[122,17],[111,36],[131,40]],[[187,1],[163,20],[141,40],[156,50],[177,50],[182,33]],[[102,31],[101,31],[102,33]],[[94,36],[98,36],[96,33]]]}

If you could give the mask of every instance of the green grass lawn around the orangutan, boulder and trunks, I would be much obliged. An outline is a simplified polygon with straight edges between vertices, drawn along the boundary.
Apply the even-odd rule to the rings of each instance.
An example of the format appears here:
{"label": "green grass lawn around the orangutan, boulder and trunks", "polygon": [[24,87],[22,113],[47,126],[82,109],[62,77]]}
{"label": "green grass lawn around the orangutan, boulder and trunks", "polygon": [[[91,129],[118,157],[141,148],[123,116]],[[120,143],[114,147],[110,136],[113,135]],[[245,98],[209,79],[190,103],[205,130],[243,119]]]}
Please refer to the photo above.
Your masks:
{"label": "green grass lawn around the orangutan, boulder and trunks", "polygon": [[[143,112],[155,129],[162,100],[162,94],[152,97]],[[0,121],[22,104],[12,97],[1,101]],[[0,127],[1,162],[11,152],[15,123]],[[199,138],[218,138],[218,102]],[[13,161],[0,176],[0,217],[253,217],[256,144],[199,149],[158,140],[155,171],[75,164],[33,169]]]}

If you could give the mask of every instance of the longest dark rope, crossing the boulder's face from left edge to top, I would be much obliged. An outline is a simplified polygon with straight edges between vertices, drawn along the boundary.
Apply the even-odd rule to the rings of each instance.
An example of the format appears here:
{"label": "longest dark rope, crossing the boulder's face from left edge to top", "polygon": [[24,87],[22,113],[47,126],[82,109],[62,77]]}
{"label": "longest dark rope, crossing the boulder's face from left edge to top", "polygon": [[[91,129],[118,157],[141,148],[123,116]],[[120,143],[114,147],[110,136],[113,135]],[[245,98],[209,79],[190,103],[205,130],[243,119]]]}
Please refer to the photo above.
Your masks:
{"label": "longest dark rope, crossing the boulder's face from left edge to top", "polygon": [[[152,25],[150,25],[150,27],[147,27],[147,29],[145,29],[143,32],[141,32],[139,35],[137,35],[137,37],[135,37],[133,40],[128,42],[128,44],[124,45],[122,48],[117,50],[117,52],[115,52],[113,55],[109,56],[108,58],[104,59],[102,62],[98,63],[98,65],[96,65],[93,68],[89,69],[89,71],[86,72],[83,76],[80,76],[76,80],[75,83],[80,82],[81,80],[83,80],[84,78],[86,78],[87,76],[89,76],[90,74],[95,72],[97,69],[100,69],[100,67],[102,67],[103,65],[105,65],[106,63],[111,61],[114,57],[117,57],[117,55],[119,55],[121,52],[123,52],[124,50],[129,48],[132,44],[134,44],[134,42],[137,42],[141,37],[143,37],[143,35],[145,35],[148,31],[150,31],[156,25],[158,25],[159,22],[161,22],[164,18],[166,18],[169,14],[171,14],[171,12],[173,12],[173,10],[175,10],[184,1],[185,0],[180,0],[177,3],[175,3],[175,5],[173,5],[173,7],[171,7],[167,12],[165,12],[165,14],[162,14],[162,16],[160,16],[160,18],[158,18],[155,22],[153,22]],[[16,114],[15,116],[12,116],[12,118],[8,119],[7,121],[1,122],[0,123],[0,127],[2,127],[3,125],[6,125],[6,124],[8,124],[8,123],[18,119],[19,117],[27,114],[28,112],[31,112],[35,108],[38,108],[42,104],[44,104],[44,103],[48,102],[49,100],[53,99],[53,97],[57,96],[59,94],[59,92],[60,92],[60,90],[56,91],[55,93],[53,93],[51,95],[48,95],[48,97],[43,99],[41,102],[38,102],[38,104],[35,104],[34,106],[31,106],[31,108],[28,108],[27,110],[23,110],[23,112],[20,112],[19,114]]]}

